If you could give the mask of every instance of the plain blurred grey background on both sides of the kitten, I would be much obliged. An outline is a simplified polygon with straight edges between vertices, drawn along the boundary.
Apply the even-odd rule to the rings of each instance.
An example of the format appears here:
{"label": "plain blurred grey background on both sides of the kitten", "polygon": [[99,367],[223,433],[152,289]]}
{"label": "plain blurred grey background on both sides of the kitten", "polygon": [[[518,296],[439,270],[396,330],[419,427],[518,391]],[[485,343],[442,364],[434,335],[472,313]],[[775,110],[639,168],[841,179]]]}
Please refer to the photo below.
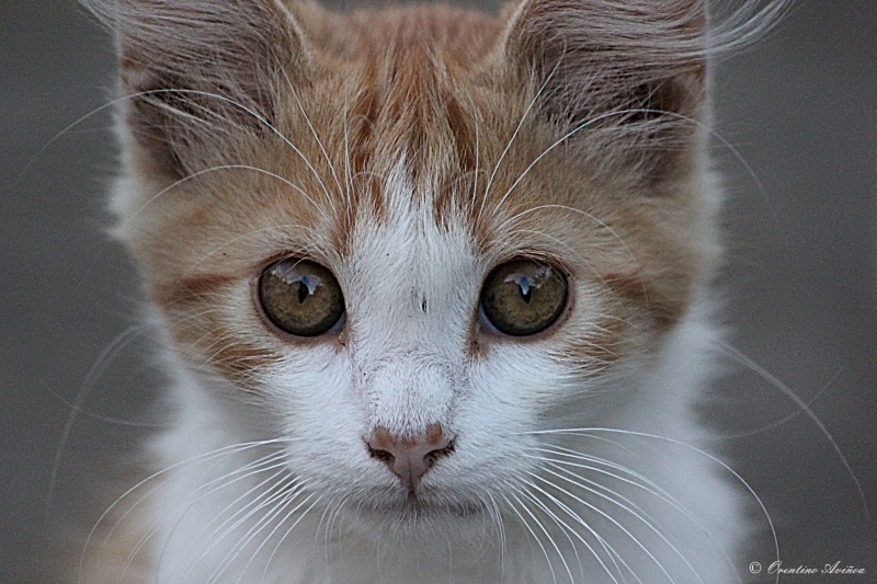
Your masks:
{"label": "plain blurred grey background on both sides of the kitten", "polygon": [[[137,293],[102,232],[110,115],[53,140],[107,102],[113,66],[109,38],[71,0],[0,2],[2,583],[54,582],[38,575],[61,553],[50,531],[94,520],[114,455],[148,432],[157,379],[145,343],[113,345],[134,322]],[[704,413],[727,436],[724,459],[770,511],[784,565],[867,570],[783,582],[877,582],[876,105],[875,0],[799,1],[767,39],[718,69],[717,127],[754,173],[716,148],[733,344],[810,403],[872,512],[817,425],[738,367]],[[47,509],[81,390],[88,413],[64,444]],[[747,566],[772,553],[766,533],[753,539],[743,581],[765,581]]]}

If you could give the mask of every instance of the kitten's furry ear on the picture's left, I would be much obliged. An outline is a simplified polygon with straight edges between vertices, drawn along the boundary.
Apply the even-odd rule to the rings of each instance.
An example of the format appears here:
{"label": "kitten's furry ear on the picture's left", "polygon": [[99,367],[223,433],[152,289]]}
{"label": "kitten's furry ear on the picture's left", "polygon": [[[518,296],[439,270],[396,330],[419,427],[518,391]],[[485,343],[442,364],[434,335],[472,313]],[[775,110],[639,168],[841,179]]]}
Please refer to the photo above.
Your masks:
{"label": "kitten's furry ear on the picture's left", "polygon": [[116,35],[122,122],[160,172],[182,176],[272,131],[308,50],[281,0],[83,0]]}

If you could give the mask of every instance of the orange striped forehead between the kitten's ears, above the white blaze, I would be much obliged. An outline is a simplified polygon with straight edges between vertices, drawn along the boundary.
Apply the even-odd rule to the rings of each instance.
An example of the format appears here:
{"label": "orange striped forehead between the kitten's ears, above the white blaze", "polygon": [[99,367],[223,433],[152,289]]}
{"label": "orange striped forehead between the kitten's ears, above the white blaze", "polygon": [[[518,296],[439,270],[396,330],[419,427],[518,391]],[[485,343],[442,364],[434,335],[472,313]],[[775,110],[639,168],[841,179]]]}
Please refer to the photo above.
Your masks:
{"label": "orange striped forehead between the kitten's ears, above the white blaze", "polygon": [[[555,138],[526,115],[532,95],[494,58],[500,19],[441,5],[301,15],[319,32],[309,37],[314,76],[282,83],[275,121],[295,151],[274,140],[258,162],[282,157],[283,174],[311,191],[328,186],[383,213],[394,192],[388,178],[403,169],[412,196],[441,222],[491,179],[499,190],[503,173],[522,170]],[[521,121],[526,140],[512,141]]]}

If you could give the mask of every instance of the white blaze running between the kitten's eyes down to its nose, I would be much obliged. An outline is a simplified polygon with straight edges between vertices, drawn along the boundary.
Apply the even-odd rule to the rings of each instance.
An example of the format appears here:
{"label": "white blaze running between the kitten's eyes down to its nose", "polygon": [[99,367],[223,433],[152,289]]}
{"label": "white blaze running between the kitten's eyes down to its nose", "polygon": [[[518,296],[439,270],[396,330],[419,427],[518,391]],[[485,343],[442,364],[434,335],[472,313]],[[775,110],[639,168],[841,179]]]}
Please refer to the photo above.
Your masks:
{"label": "white blaze running between the kitten's eyes down to its nose", "polygon": [[402,164],[385,202],[385,217],[361,216],[351,239],[349,346],[369,425],[411,436],[446,424],[465,383],[480,270],[463,224],[437,226]]}

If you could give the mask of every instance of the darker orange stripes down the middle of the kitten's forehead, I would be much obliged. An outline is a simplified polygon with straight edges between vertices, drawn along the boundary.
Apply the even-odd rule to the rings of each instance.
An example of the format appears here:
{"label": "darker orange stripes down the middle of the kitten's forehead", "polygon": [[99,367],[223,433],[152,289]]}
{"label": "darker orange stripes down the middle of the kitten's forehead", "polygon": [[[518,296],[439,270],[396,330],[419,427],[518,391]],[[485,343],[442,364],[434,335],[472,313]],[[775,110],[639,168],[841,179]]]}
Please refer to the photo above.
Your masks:
{"label": "darker orange stripes down the middle of the kitten's forehead", "polygon": [[389,176],[403,160],[418,194],[434,191],[440,203],[434,208],[441,209],[452,203],[448,192],[475,172],[482,113],[469,87],[471,73],[394,24],[400,26],[396,36],[387,33],[381,50],[366,51],[344,73],[356,80],[344,89],[346,163],[360,178],[356,195],[380,208],[386,197],[376,196],[374,182],[384,183],[386,195]]}

